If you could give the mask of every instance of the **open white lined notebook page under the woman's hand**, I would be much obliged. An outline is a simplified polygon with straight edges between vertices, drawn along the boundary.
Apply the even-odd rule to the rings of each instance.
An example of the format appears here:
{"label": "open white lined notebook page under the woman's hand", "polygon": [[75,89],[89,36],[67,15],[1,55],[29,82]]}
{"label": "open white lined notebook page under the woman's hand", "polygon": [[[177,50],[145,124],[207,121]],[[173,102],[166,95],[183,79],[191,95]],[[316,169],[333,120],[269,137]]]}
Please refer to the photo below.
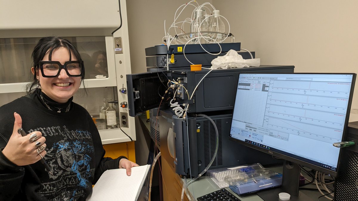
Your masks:
{"label": "open white lined notebook page under the woman's hand", "polygon": [[136,201],[149,168],[150,165],[132,167],[131,176],[127,176],[124,168],[103,172],[87,200]]}

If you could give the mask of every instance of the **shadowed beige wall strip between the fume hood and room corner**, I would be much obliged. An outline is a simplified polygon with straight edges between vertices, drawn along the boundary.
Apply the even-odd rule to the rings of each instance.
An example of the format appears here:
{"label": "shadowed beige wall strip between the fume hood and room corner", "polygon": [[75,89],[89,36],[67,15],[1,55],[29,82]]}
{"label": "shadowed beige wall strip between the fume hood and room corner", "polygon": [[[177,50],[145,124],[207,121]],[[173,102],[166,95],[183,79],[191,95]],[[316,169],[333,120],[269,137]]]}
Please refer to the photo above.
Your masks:
{"label": "shadowed beige wall strip between the fume hood and room corner", "polygon": [[[168,30],[174,21],[176,9],[188,2],[188,0],[127,0],[132,73],[147,71],[144,49],[163,43],[164,20],[166,20],[165,27]],[[212,0],[198,3],[205,2],[212,3]],[[180,16],[190,18],[193,9],[193,6],[187,6]],[[180,19],[182,18],[178,18]]]}

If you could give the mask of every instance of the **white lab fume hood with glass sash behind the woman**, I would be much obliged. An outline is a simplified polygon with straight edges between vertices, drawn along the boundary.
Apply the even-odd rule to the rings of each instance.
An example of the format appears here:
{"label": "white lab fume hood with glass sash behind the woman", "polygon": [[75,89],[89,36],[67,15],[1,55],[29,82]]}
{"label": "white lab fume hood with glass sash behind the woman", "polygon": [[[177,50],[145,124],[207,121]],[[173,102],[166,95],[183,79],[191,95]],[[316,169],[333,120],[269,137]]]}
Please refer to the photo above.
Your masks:
{"label": "white lab fume hood with glass sash behind the woman", "polygon": [[[10,1],[0,8],[0,16],[7,16],[6,21],[5,18],[0,20],[0,106],[25,95],[25,85],[32,78],[33,48],[41,37],[48,35],[70,40],[84,61],[84,86],[88,95],[79,89],[74,102],[93,115],[99,113],[103,98],[118,100],[118,105],[127,102],[127,94],[121,90],[126,88],[125,75],[131,73],[126,2],[121,0],[120,6],[117,0],[86,1],[80,7],[74,5],[79,2],[69,0],[61,4],[53,2],[53,6],[48,4],[32,2],[18,6]],[[61,5],[72,6],[62,8]],[[46,18],[42,12],[29,13],[28,18],[19,19],[18,14],[39,11],[42,7],[44,10],[51,8],[51,13],[55,14]],[[16,12],[11,9],[16,9]],[[100,76],[96,78],[96,75]],[[119,121],[125,120],[125,124],[121,123],[121,128],[99,130],[102,144],[136,140],[134,117],[128,115],[126,107],[118,107],[118,110]]]}

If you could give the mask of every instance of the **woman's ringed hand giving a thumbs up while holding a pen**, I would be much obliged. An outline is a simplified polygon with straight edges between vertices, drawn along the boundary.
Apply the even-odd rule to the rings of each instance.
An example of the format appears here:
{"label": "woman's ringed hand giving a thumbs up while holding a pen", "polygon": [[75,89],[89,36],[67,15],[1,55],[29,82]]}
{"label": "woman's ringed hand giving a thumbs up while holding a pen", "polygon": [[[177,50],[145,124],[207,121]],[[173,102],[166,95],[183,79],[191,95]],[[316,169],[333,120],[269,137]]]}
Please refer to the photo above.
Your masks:
{"label": "woman's ringed hand giving a thumbs up while holding a pen", "polygon": [[18,129],[22,127],[22,119],[20,114],[16,112],[14,117],[13,134],[3,149],[3,154],[18,166],[33,164],[46,155],[47,152],[45,150],[38,153],[40,146],[46,147],[46,139],[42,137],[42,133],[39,131],[32,132],[24,137],[21,136],[18,133]]}

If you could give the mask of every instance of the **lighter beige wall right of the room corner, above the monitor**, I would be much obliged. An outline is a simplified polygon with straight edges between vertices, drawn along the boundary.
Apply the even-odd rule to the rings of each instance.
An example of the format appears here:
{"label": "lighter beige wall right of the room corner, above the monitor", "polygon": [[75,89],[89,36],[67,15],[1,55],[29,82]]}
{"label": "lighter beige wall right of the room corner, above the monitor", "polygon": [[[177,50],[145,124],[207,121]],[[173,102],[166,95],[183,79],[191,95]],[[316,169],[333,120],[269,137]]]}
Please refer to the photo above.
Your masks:
{"label": "lighter beige wall right of the room corner, above the monitor", "polygon": [[[224,2],[224,3],[222,3]],[[358,1],[213,0],[242,48],[295,72],[358,73]],[[355,85],[352,108],[358,108]],[[350,121],[358,121],[351,114]]]}

